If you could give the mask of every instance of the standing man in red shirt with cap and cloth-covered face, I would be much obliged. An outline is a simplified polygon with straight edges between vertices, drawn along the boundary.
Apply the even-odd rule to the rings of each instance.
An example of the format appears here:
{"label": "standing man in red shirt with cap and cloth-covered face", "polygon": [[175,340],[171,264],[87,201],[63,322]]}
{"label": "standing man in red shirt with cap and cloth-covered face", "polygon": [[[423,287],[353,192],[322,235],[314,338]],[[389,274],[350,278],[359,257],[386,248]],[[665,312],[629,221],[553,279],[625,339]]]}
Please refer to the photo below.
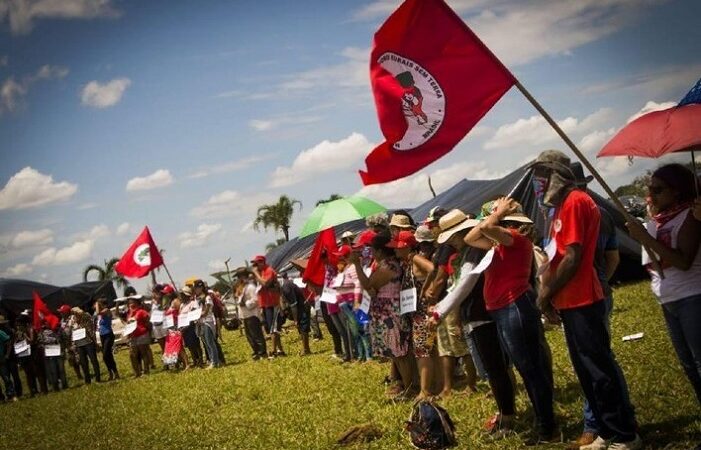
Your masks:
{"label": "standing man in red shirt with cap and cloth-covered face", "polygon": [[599,436],[581,449],[637,449],[642,440],[625,399],[625,382],[611,351],[604,292],[594,257],[601,215],[596,203],[576,189],[570,160],[547,150],[533,164],[543,204],[555,208],[550,226],[551,260],[538,293],[538,306],[562,318],[567,347],[584,395],[599,425]]}

